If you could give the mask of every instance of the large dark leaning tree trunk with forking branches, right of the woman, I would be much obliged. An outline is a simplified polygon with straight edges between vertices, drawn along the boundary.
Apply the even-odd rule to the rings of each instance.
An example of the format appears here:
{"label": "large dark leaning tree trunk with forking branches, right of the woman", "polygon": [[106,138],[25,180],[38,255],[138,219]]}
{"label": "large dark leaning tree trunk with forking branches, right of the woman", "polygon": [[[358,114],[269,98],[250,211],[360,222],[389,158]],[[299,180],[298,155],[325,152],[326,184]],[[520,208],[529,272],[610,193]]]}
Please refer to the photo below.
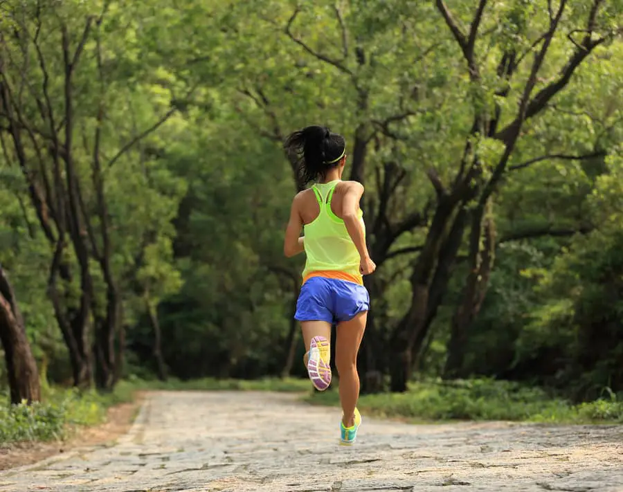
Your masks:
{"label": "large dark leaning tree trunk with forking branches, right of the woman", "polygon": [[[557,9],[553,9],[549,4],[549,9],[545,10],[546,17],[544,18],[547,20],[543,30],[534,41],[526,39],[523,42],[527,45],[527,51],[523,51],[521,46],[514,46],[513,44],[500,46],[501,56],[495,72],[496,78],[494,80],[496,82],[494,86],[491,87],[488,96],[482,93],[484,88],[476,89],[477,96],[472,100],[474,118],[471,129],[467,132],[464,152],[453,184],[449,189],[446,189],[446,186],[437,178],[436,172],[429,173],[431,183],[437,192],[437,205],[422,252],[415,262],[410,279],[413,288],[411,307],[399,323],[393,338],[395,349],[398,350],[400,347],[406,346],[406,349],[401,351],[401,363],[392,371],[393,390],[406,389],[413,354],[419,352],[426,330],[430,326],[430,321],[427,320],[428,313],[437,309],[438,302],[442,297],[442,295],[434,295],[435,277],[437,279],[447,277],[445,271],[455,262],[464,230],[467,228],[468,221],[471,221],[469,253],[471,272],[467,278],[464,299],[459,311],[453,318],[455,338],[453,346],[460,346],[465,327],[473,319],[482,303],[482,284],[487,280],[493,259],[491,254],[491,249],[494,247],[493,235],[491,234],[493,228],[490,222],[489,226],[484,228],[482,226],[487,203],[503,181],[503,176],[505,176],[507,165],[521,136],[524,123],[547,109],[548,103],[565,89],[578,66],[586,60],[588,55],[619,33],[619,29],[612,28],[608,22],[604,22],[603,27],[602,24],[599,24],[601,4],[601,0],[595,0],[592,3],[588,15],[584,17],[581,41],[575,42],[575,50],[564,62],[562,69],[559,69],[559,75],[554,75],[550,82],[543,84],[542,89],[534,96],[532,92],[539,82],[539,71],[543,68],[550,45],[559,32],[563,12],[566,9],[566,1],[561,1]],[[483,73],[476,50],[476,42],[486,7],[487,1],[480,1],[476,13],[473,15],[469,31],[465,33],[458,26],[453,13],[446,7],[445,3],[441,0],[437,1],[437,9],[449,27],[464,58],[469,83],[476,84],[478,87],[482,84]],[[508,12],[512,14],[509,18],[516,19],[512,29],[521,38],[525,33],[526,16],[530,15],[531,12],[527,10],[528,6],[522,2],[515,3],[511,8],[514,10]],[[606,11],[605,14],[602,12],[602,15],[608,19],[611,12]],[[575,17],[579,17],[579,15]],[[494,19],[491,18],[491,20]],[[534,29],[534,25],[531,25],[531,28]],[[540,47],[537,48],[537,46]],[[532,50],[535,50],[535,53],[530,69],[522,69],[521,62]],[[501,126],[503,105],[500,101],[509,98],[512,89],[517,87],[517,79],[521,77],[520,74],[523,75],[524,82],[518,86],[521,89],[515,96],[518,110],[505,126]],[[483,96],[485,96],[484,99]],[[493,146],[494,152],[489,151],[489,155],[487,155],[487,146],[489,148]],[[491,158],[494,162],[491,162]],[[495,163],[495,161],[497,162]],[[486,253],[484,257],[480,250],[480,238],[483,230],[487,235],[485,246],[489,248],[489,253]],[[446,234],[447,237],[444,238]],[[446,282],[440,283],[445,284]],[[440,287],[441,291],[443,289],[444,285]]]}

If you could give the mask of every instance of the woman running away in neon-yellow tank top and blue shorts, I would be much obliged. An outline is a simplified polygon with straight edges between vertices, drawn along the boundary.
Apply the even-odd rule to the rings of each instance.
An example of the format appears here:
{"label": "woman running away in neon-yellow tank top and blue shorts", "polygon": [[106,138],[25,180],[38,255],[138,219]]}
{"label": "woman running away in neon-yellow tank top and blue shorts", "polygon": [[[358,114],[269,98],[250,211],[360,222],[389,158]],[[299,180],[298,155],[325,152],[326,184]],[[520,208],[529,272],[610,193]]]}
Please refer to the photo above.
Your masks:
{"label": "woman running away in neon-yellow tank top and blue shorts", "polygon": [[294,317],[303,329],[309,379],[320,391],[331,383],[329,340],[332,324],[337,325],[335,363],[343,410],[341,440],[352,444],[361,423],[356,409],[357,352],[370,309],[362,275],[376,268],[365,245],[363,212],[359,208],[363,185],[341,180],[346,163],[345,139],[327,127],[295,131],[284,147],[301,181],[316,181],[294,197],[283,245],[287,257],[303,251],[307,256]]}

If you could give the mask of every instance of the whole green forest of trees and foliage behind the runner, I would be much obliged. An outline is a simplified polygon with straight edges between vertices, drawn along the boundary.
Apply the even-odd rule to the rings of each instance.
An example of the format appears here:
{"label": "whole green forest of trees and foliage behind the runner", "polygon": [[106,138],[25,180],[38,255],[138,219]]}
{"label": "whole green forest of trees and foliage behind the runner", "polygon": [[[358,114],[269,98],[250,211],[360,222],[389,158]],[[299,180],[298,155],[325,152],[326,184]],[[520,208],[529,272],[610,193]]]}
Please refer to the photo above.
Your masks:
{"label": "whole green forest of trees and foliage behind the runner", "polygon": [[621,0],[0,0],[6,419],[69,386],[41,411],[300,389],[282,142],[310,124],[365,185],[364,404],[623,418],[622,26]]}

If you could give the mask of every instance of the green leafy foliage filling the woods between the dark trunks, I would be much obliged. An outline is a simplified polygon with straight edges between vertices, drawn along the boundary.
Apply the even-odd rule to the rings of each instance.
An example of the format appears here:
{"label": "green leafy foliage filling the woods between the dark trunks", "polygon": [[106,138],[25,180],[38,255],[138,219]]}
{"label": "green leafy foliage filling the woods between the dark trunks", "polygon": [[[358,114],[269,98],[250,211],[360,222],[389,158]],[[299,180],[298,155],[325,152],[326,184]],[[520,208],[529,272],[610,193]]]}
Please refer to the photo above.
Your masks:
{"label": "green leafy foliage filling the woods between the dark trunks", "polygon": [[[591,39],[609,37],[623,24],[619,0],[600,5]],[[591,0],[568,2],[533,95],[568,66],[575,47],[568,33],[581,41],[591,6]],[[466,29],[473,2],[453,1],[449,8]],[[469,77],[460,46],[431,2],[323,0],[295,9],[285,0],[0,1],[0,30],[10,33],[2,36],[0,83],[15,95],[20,128],[32,129],[32,134],[21,129],[22,166],[10,118],[0,109],[0,262],[10,273],[37,362],[52,383],[66,382],[71,370],[48,296],[55,244],[42,231],[26,178],[35,176],[42,190],[45,177],[53,181],[48,113],[57,116],[61,143],[66,139],[62,27],[74,51],[89,16],[97,19],[102,12],[101,24],[90,24],[84,52],[72,67],[72,156],[84,199],[82,217],[97,236],[87,243],[95,286],[91,314],[103,315],[106,280],[92,251],[103,246],[93,186],[99,129],[111,266],[125,329],[125,376],[147,379],[155,372],[157,326],[158,348],[174,376],[162,388],[276,387],[272,381],[232,378],[280,374],[289,354],[303,259],[281,254],[295,185],[280,142],[289,131],[318,122],[346,136],[351,158],[355,142],[367,143],[362,178],[370,246],[382,246],[397,224],[417,212],[424,217],[397,237],[390,250],[399,253],[374,274],[374,342],[386,352],[379,367],[386,370],[383,361],[395,355],[386,343],[413,300],[409,278],[435,215],[437,194],[428,172],[435,170],[451,190],[469,138],[482,163],[482,179],[489,179],[504,146],[496,138],[470,135],[474,115],[482,112],[491,119],[498,109],[498,129],[516,115],[539,48],[536,40],[547,28],[548,2],[487,3],[474,46],[477,80]],[[25,35],[15,36],[15,30]],[[522,57],[510,81],[499,75],[504,53]],[[464,345],[466,375],[554,385],[578,400],[595,399],[606,385],[623,388],[621,60],[623,43],[612,37],[523,126],[492,197],[496,259]],[[45,92],[50,108],[42,111]],[[390,169],[404,177],[389,186],[384,224],[385,218],[377,221],[375,214]],[[55,203],[53,193],[45,198],[48,205]],[[464,203],[467,210],[473,205]],[[574,230],[590,233],[566,233]],[[557,234],[548,237],[548,231]],[[71,275],[59,280],[59,290],[70,310],[80,305],[82,293],[75,256],[68,243],[63,257]],[[419,354],[417,369],[423,374],[438,376],[444,367],[466,257],[464,238]],[[91,346],[92,333],[86,341]],[[299,361],[300,340],[295,349]],[[303,372],[295,363],[292,374]],[[175,379],[204,377],[201,383]],[[298,382],[283,384],[294,389]],[[515,409],[511,414],[527,418],[541,401],[524,390],[476,397],[484,387],[439,388],[426,386],[426,398],[433,402],[427,408],[417,407],[410,394],[370,398],[438,418],[503,415],[497,403],[487,406],[487,398],[508,398]],[[428,394],[424,387],[421,391]],[[444,392],[455,392],[452,408],[443,407],[450,394]],[[56,411],[46,405],[60,408],[59,401],[35,406],[39,410],[33,412]],[[597,403],[587,408],[582,411],[602,412]]]}

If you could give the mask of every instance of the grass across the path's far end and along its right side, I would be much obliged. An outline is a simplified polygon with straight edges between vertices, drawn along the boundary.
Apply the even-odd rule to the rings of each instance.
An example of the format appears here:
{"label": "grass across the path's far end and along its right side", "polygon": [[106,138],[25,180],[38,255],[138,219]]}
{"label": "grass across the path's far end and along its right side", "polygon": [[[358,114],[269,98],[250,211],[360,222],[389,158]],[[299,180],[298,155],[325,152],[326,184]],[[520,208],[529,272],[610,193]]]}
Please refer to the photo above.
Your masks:
{"label": "grass across the path's far end and along its right side", "polygon": [[[326,392],[311,392],[307,379],[196,379],[179,381],[131,380],[145,390],[242,390],[305,393],[303,400],[315,405],[339,406],[338,381]],[[548,423],[623,423],[623,401],[611,392],[608,398],[572,405],[552,397],[541,388],[509,381],[471,379],[467,381],[422,381],[410,385],[408,392],[363,395],[359,408],[378,417],[411,422],[453,420],[507,420]]]}

